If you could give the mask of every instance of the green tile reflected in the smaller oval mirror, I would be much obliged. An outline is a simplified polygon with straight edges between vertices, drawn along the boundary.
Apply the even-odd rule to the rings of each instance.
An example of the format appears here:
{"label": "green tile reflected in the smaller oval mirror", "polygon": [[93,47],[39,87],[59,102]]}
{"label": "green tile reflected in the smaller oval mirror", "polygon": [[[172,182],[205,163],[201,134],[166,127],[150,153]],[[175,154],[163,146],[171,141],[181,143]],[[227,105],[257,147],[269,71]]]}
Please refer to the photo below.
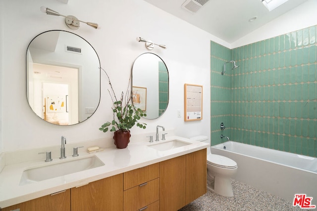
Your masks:
{"label": "green tile reflected in the smaller oval mirror", "polygon": [[164,113],[168,104],[168,72],[163,62],[159,61],[159,115]]}

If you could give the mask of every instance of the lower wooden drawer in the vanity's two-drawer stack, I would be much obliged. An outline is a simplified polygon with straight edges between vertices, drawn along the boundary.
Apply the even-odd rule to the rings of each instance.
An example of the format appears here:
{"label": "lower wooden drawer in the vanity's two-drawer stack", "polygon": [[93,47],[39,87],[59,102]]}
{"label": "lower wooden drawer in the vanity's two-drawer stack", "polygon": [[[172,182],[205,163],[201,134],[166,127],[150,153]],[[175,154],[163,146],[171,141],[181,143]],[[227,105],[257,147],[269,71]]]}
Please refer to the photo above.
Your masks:
{"label": "lower wooden drawer in the vanity's two-drawer stack", "polygon": [[123,192],[124,211],[137,211],[159,200],[159,178]]}

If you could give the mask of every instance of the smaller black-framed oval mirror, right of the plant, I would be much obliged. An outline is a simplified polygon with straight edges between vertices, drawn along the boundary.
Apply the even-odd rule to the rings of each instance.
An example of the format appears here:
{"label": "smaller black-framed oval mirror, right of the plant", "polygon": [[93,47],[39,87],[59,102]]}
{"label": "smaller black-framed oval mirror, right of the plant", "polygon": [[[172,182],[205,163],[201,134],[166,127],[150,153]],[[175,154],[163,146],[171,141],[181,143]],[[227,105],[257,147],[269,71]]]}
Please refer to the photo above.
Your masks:
{"label": "smaller black-framed oval mirror, right of the plant", "polygon": [[133,105],[146,112],[145,119],[159,118],[168,105],[168,70],[154,53],[143,53],[132,66]]}

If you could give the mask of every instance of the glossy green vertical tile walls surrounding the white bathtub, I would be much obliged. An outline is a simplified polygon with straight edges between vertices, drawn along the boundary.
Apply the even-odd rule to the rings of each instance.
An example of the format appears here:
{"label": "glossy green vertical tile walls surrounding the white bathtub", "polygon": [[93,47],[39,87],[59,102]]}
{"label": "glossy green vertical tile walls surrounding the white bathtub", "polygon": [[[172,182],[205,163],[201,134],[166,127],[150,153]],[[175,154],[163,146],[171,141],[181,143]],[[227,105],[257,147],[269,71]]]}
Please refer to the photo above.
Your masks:
{"label": "glossy green vertical tile walls surrounding the white bathtub", "polygon": [[[225,141],[223,133],[317,157],[316,35],[313,26],[231,50],[211,42],[211,145]],[[221,76],[230,60],[240,67],[227,64]]]}

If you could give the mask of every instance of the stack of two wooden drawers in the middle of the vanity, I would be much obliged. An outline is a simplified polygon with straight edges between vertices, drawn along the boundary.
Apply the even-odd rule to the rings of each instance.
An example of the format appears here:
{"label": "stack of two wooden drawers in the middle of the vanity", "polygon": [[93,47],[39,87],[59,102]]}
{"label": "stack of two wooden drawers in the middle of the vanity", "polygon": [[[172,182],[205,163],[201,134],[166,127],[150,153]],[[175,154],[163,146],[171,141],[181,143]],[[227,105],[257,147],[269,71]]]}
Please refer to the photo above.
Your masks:
{"label": "stack of two wooden drawers in the middle of the vanity", "polygon": [[125,172],[124,211],[159,211],[159,163]]}

